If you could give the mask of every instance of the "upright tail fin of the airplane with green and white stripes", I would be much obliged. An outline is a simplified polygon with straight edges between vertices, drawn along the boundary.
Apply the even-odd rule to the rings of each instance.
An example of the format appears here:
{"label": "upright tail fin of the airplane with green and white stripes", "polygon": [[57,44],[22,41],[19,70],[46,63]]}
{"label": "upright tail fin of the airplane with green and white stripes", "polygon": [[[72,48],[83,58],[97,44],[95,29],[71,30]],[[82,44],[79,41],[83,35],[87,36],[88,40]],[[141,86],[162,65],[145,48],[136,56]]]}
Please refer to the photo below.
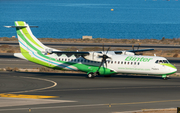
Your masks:
{"label": "upright tail fin of the airplane with green and white stripes", "polygon": [[[43,45],[31,32],[29,25],[23,21],[15,21],[21,53],[46,51],[49,48]],[[53,50],[53,49],[52,49]]]}

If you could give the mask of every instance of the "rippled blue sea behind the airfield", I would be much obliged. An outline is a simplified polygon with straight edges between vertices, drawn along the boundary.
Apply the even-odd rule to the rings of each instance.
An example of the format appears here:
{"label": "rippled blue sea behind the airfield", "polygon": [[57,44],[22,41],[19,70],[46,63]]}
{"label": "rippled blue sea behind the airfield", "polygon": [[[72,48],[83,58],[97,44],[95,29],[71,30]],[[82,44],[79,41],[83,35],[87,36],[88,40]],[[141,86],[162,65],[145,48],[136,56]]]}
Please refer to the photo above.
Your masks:
{"label": "rippled blue sea behind the airfield", "polygon": [[[111,11],[113,9],[113,11]],[[0,0],[0,37],[26,21],[38,38],[180,37],[180,0]]]}

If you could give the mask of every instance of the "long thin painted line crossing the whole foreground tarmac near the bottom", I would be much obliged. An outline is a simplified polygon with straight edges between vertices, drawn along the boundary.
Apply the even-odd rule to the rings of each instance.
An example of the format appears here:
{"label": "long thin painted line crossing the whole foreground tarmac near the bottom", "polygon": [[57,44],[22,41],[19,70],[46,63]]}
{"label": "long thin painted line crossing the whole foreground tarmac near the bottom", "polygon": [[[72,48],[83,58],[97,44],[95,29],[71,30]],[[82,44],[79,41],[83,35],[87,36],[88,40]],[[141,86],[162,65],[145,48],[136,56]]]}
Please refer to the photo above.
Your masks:
{"label": "long thin painted line crossing the whole foreground tarmac near the bottom", "polygon": [[[152,104],[152,103],[164,103],[164,102],[179,102],[180,100],[161,100],[161,101],[147,101],[147,102],[130,102],[130,103],[111,103],[113,105],[131,105],[131,104]],[[55,109],[55,108],[76,108],[76,107],[97,107],[97,106],[109,106],[110,104],[87,104],[87,105],[70,105],[70,106],[51,106],[51,107],[31,107],[35,109]],[[0,109],[0,111],[11,111],[11,110],[27,110],[27,108],[12,108],[12,109]]]}

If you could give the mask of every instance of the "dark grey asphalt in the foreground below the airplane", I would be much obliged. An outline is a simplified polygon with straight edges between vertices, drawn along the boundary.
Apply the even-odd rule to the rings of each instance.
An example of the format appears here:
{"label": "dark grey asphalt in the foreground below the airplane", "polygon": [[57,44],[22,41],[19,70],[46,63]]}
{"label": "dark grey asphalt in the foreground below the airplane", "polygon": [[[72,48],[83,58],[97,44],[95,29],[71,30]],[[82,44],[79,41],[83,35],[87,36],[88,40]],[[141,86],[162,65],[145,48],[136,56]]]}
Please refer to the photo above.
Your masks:
{"label": "dark grey asphalt in the foreground below the airplane", "polygon": [[[49,99],[0,97],[3,113],[112,113],[180,105],[180,78],[0,72],[0,95],[57,96]],[[29,96],[27,96],[29,97]]]}

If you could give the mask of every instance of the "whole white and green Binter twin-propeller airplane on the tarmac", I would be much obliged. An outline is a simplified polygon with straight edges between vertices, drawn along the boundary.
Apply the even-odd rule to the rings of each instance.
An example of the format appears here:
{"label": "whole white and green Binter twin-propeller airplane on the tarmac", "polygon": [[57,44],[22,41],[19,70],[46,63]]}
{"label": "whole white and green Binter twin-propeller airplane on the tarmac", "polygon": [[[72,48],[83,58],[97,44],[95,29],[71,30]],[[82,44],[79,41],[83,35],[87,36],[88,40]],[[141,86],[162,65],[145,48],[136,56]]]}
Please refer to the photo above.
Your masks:
{"label": "whole white and green Binter twin-propeller airplane on the tarmac", "polygon": [[124,50],[124,51],[60,51],[42,44],[31,32],[24,21],[15,21],[21,53],[14,53],[15,57],[25,59],[48,68],[59,70],[82,71],[87,78],[96,75],[111,76],[113,74],[145,74],[157,75],[167,79],[168,75],[177,71],[176,67],[164,57],[141,56],[136,52],[154,49]]}

